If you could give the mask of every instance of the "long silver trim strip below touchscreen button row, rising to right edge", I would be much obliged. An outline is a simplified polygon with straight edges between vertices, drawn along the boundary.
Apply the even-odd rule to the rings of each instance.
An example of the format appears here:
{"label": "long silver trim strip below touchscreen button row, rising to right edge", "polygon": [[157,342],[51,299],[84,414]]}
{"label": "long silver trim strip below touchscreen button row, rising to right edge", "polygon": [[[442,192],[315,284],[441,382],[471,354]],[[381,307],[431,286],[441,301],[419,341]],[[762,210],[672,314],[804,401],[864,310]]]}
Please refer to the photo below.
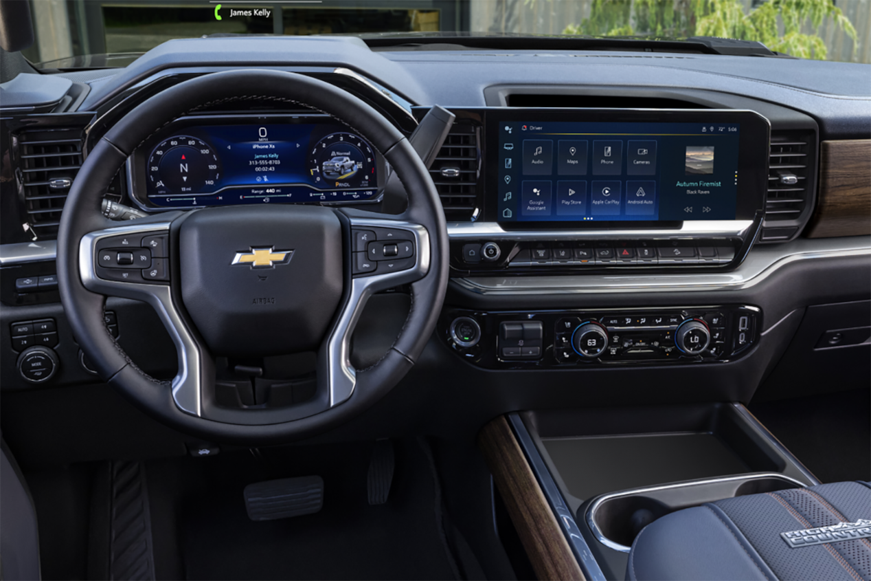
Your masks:
{"label": "long silver trim strip below touchscreen button row, rising to right edge", "polygon": [[[788,248],[791,251],[785,251]],[[781,245],[757,246],[731,272],[681,274],[611,272],[607,274],[490,276],[454,278],[455,284],[481,295],[595,294],[602,292],[740,291],[760,284],[775,271],[803,260],[871,256],[871,236],[798,239]],[[544,269],[545,267],[543,267]]]}

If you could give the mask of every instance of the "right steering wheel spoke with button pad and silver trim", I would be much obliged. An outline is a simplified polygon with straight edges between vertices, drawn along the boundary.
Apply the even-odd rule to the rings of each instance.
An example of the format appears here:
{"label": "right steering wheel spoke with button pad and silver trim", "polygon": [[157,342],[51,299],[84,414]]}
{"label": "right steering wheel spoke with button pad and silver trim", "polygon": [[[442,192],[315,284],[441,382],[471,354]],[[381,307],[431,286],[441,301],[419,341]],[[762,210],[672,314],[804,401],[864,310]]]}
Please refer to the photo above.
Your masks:
{"label": "right steering wheel spoke with button pad and silver trim", "polygon": [[429,272],[429,232],[403,220],[351,218],[353,253],[350,291],[319,357],[319,381],[329,407],[348,400],[357,383],[350,361],[351,337],[369,297],[414,283]]}

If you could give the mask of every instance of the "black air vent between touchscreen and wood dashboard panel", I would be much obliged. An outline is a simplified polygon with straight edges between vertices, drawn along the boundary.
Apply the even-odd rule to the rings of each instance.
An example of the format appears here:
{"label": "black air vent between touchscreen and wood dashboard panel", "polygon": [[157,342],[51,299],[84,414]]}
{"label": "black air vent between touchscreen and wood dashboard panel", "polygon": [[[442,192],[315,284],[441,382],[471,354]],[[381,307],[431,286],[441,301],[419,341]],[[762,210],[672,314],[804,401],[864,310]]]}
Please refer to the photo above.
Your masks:
{"label": "black air vent between touchscreen and wood dashboard panel", "polygon": [[814,134],[779,131],[771,135],[768,192],[762,240],[783,242],[798,233],[812,191]]}

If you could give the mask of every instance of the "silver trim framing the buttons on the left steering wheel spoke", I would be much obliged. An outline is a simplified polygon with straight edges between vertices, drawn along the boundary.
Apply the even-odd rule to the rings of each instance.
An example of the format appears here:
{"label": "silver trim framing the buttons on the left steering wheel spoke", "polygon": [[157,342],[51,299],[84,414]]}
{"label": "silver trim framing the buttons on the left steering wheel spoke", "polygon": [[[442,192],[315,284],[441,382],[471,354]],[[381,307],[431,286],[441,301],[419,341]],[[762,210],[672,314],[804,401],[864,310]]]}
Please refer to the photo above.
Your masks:
{"label": "silver trim framing the buttons on the left steering wheel spoke", "polygon": [[185,325],[184,320],[176,310],[170,284],[121,283],[104,280],[97,276],[94,264],[94,254],[97,243],[106,236],[118,234],[136,234],[145,236],[151,232],[169,234],[170,222],[150,224],[132,224],[97,230],[82,237],[78,245],[79,275],[82,284],[89,291],[112,297],[126,297],[151,304],[157,311],[161,322],[172,337],[176,352],[179,355],[179,373],[172,379],[172,399],[180,410],[187,414],[202,415],[202,401],[199,386],[202,384],[202,366],[197,341]]}

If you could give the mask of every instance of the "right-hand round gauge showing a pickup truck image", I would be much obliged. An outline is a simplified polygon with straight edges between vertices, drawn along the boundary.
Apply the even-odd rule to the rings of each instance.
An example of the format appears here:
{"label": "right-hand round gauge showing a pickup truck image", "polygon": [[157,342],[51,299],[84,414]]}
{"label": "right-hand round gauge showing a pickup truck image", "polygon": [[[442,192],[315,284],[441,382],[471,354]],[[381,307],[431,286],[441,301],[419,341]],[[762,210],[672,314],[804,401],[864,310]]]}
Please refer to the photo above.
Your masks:
{"label": "right-hand round gauge showing a pickup truck image", "polygon": [[317,188],[374,188],[375,152],[354,133],[330,133],[309,150],[308,172]]}

